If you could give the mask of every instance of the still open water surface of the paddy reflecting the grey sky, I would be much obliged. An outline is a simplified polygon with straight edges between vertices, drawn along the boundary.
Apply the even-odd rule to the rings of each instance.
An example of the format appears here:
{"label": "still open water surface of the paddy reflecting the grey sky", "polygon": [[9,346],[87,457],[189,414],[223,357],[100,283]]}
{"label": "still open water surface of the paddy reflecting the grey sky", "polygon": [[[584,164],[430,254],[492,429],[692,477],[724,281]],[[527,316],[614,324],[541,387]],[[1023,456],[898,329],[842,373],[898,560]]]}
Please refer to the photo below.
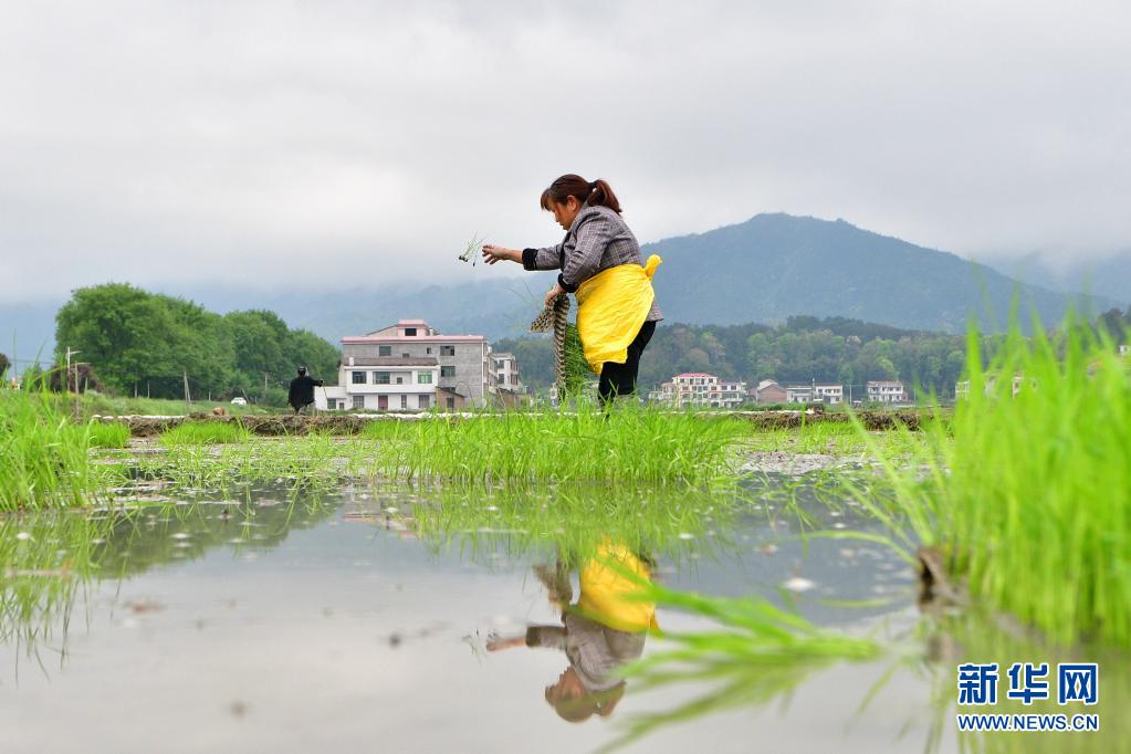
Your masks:
{"label": "still open water surface of the paddy reflecting the grey sky", "polygon": [[[621,720],[701,693],[637,694],[629,679],[607,717],[559,717],[545,688],[569,667],[563,651],[487,649],[493,635],[561,625],[544,583],[558,553],[490,530],[490,497],[475,501],[485,503],[482,530],[429,537],[413,518],[426,496],[365,487],[318,501],[284,495],[110,521],[92,556],[96,575],[76,582],[50,615],[6,613],[5,751],[593,751],[625,731]],[[75,515],[10,519],[3,535],[46,538],[58,519]],[[676,532],[670,552],[655,555],[654,578],[674,589],[788,599],[821,624],[906,626],[914,573],[890,552],[835,541],[806,548],[779,511],[743,506],[724,518],[725,534]],[[890,601],[826,601],[878,597]],[[706,624],[664,609],[657,619],[666,631]],[[718,751],[754,742],[875,751],[921,720],[929,699],[922,679],[900,674],[861,726],[855,708],[884,669],[832,668],[814,678],[792,705],[804,725],[777,705],[739,709],[664,726],[627,751],[685,751],[703,736]],[[855,691],[841,693],[849,678]],[[923,738],[924,729],[913,734],[910,748]]]}

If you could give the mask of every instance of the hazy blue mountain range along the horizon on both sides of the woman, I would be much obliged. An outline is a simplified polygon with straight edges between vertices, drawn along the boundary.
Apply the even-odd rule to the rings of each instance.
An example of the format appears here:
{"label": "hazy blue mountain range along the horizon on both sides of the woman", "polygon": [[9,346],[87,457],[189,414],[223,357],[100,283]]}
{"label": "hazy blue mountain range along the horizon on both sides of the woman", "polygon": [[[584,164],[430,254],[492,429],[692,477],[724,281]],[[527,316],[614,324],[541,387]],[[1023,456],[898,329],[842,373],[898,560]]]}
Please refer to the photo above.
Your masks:
{"label": "hazy blue mountain range along the horizon on both sides of the woman", "polygon": [[[1034,306],[1050,324],[1059,321],[1070,304],[1091,313],[1120,305],[1117,300],[1083,300],[1022,285],[984,265],[844,220],[758,215],[737,225],[649,243],[644,251],[664,258],[655,286],[668,322],[783,322],[791,315],[809,314],[959,332],[970,314],[976,314],[983,327],[998,329],[1008,321],[1015,293],[1022,306]],[[501,269],[468,266],[468,279],[460,284],[389,283],[336,291],[312,285],[279,292],[221,284],[162,286],[157,291],[191,298],[221,313],[268,309],[292,328],[309,329],[330,341],[370,332],[402,318],[423,318],[442,332],[498,339],[526,331],[553,283],[550,272],[515,277],[503,276]],[[3,344],[11,343],[15,329],[20,358],[33,357],[41,347],[49,356],[54,311],[60,303],[0,304],[0,352],[10,349]]]}

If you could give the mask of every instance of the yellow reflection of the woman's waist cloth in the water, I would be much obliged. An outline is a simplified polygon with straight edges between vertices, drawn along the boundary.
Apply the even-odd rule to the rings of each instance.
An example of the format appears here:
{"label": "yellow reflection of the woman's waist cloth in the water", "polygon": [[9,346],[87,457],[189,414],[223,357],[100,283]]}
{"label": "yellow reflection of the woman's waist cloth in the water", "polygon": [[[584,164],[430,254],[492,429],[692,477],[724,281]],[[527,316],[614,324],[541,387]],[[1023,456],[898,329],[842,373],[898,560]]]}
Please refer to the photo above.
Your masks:
{"label": "yellow reflection of the woman's waist cloth in the water", "polygon": [[650,581],[648,566],[624,545],[605,543],[581,569],[578,607],[586,617],[616,631],[658,631],[656,603],[629,599],[644,587],[621,573],[623,569]]}

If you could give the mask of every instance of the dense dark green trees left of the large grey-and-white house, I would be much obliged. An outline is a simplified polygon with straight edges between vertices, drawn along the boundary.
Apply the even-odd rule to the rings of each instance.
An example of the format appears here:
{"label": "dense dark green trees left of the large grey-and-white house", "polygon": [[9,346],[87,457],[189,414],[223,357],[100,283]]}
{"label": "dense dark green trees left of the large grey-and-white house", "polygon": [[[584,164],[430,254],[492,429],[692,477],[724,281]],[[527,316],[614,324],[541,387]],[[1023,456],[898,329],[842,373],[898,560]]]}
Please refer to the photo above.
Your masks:
{"label": "dense dark green trees left of the large grey-and-white house", "polygon": [[[339,353],[277,314],[248,310],[217,314],[183,298],[112,283],[79,288],[55,315],[55,363],[89,364],[110,390],[183,398],[248,396],[285,402],[297,365],[336,381]],[[265,376],[268,385],[265,396]],[[280,395],[283,393],[283,395]]]}

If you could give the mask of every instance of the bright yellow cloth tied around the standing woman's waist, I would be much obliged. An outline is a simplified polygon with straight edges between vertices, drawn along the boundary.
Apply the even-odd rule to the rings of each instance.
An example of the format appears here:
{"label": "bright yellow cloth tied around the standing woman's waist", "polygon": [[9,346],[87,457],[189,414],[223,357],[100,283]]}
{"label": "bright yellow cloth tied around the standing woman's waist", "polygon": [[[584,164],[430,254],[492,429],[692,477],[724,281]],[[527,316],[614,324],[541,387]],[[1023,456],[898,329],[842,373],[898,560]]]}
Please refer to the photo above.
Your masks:
{"label": "bright yellow cloth tied around the standing woman's waist", "polygon": [[644,267],[619,265],[594,275],[577,288],[577,331],[585,361],[595,374],[605,362],[623,364],[656,294],[651,276],[663,260],[653,254]]}

